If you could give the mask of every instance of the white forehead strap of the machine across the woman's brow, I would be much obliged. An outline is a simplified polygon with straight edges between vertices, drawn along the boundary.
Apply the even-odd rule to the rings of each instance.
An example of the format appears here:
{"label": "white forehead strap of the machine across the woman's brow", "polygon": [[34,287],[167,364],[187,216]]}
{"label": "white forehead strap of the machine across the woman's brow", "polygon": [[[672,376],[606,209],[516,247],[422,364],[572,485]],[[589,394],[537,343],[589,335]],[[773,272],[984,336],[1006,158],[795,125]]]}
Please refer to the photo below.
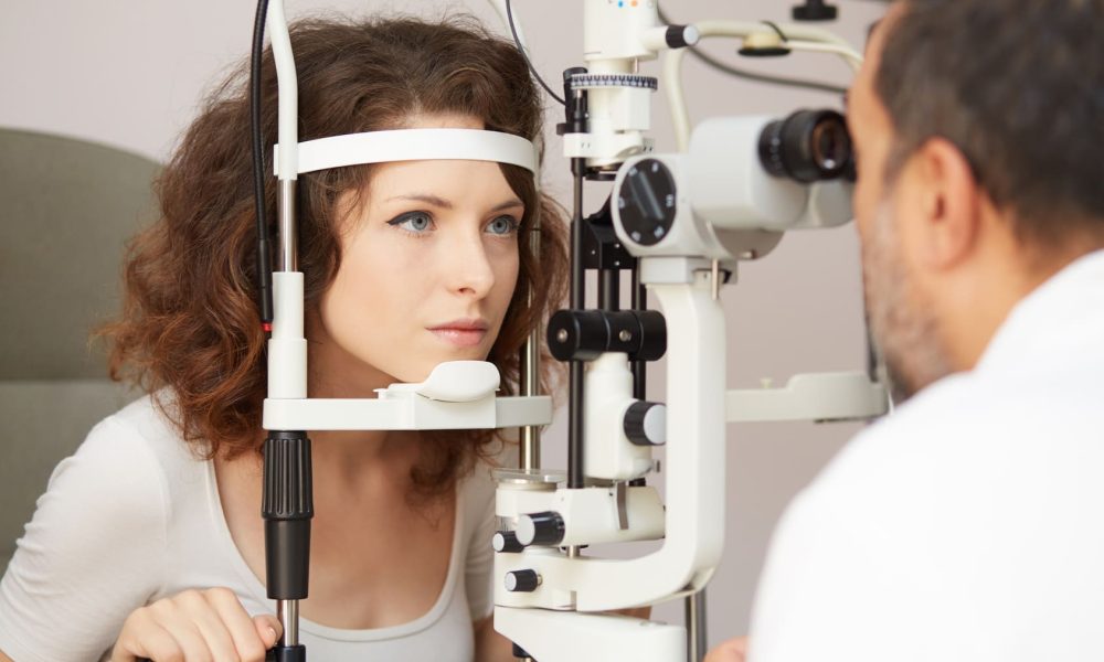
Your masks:
{"label": "white forehead strap of the machine across the woman's brow", "polygon": [[300,142],[298,172],[279,171],[279,145],[273,159],[279,179],[327,168],[389,161],[497,161],[537,173],[537,146],[512,134],[484,129],[395,129],[333,136]]}

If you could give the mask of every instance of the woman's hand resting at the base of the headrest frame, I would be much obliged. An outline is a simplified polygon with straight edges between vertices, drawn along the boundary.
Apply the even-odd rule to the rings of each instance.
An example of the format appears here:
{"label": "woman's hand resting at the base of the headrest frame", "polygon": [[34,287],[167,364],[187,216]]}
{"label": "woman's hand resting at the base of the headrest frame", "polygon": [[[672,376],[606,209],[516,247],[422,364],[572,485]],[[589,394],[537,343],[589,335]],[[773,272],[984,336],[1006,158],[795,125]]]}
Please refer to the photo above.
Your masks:
{"label": "woman's hand resting at the base of the headrest frame", "polygon": [[185,590],[131,612],[110,662],[263,662],[280,632],[275,616],[250,618],[229,588]]}

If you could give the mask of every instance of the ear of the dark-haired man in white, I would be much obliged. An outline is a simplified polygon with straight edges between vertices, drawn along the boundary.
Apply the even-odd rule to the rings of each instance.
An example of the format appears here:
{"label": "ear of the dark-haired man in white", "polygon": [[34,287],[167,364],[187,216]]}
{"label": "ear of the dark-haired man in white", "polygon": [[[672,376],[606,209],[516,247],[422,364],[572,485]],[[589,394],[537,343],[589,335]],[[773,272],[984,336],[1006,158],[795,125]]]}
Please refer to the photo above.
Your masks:
{"label": "ear of the dark-haired man in white", "polygon": [[931,138],[913,154],[916,196],[922,218],[917,255],[934,269],[954,267],[969,257],[981,229],[981,191],[974,171],[954,143]]}

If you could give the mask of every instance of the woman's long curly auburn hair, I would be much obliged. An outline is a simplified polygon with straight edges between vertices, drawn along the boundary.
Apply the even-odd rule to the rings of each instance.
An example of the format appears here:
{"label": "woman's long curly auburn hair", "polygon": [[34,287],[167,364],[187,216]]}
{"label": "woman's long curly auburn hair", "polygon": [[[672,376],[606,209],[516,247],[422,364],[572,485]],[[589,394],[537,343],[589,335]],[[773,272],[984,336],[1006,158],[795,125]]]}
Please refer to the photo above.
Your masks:
{"label": "woman's long curly auburn hair", "polygon": [[[471,19],[306,20],[290,26],[290,38],[300,140],[402,128],[422,114],[474,116],[488,130],[530,140],[541,132],[540,96],[526,62],[511,43]],[[278,96],[270,50],[262,89],[269,110],[262,130],[270,154]],[[242,66],[213,90],[155,182],[160,220],[128,245],[123,314],[100,331],[110,343],[112,378],[155,394],[183,439],[205,458],[259,453],[264,442],[266,338],[255,302],[250,140],[248,73]],[[526,213],[517,287],[488,360],[501,372],[503,389],[517,393],[526,338],[564,297],[566,225],[562,207],[537,190],[529,171],[500,167]],[[308,314],[341,260],[338,197],[364,191],[371,171],[360,166],[299,178],[299,268]],[[275,210],[274,178],[267,178],[265,194]],[[539,256],[531,232],[541,235]],[[544,365],[546,388],[551,364]],[[493,439],[488,430],[424,435],[422,458],[411,472],[413,493],[450,490]]]}

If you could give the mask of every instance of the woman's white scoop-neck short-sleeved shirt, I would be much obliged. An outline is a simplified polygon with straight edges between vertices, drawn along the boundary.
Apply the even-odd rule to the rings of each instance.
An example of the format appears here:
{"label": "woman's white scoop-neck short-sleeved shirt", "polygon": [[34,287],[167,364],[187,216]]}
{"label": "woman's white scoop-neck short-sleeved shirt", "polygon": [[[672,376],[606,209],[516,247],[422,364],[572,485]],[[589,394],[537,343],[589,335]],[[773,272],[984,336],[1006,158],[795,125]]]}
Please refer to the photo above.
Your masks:
{"label": "woman's white scoop-neck short-sleeved shirt", "polygon": [[[302,619],[308,655],[471,660],[473,621],[492,608],[493,498],[486,465],[458,485],[448,575],[427,613],[375,630]],[[138,607],[214,586],[234,590],[251,615],[275,613],[231,538],[213,463],[198,460],[145,397],[54,470],[0,583],[0,650],[14,662],[96,660]]]}

